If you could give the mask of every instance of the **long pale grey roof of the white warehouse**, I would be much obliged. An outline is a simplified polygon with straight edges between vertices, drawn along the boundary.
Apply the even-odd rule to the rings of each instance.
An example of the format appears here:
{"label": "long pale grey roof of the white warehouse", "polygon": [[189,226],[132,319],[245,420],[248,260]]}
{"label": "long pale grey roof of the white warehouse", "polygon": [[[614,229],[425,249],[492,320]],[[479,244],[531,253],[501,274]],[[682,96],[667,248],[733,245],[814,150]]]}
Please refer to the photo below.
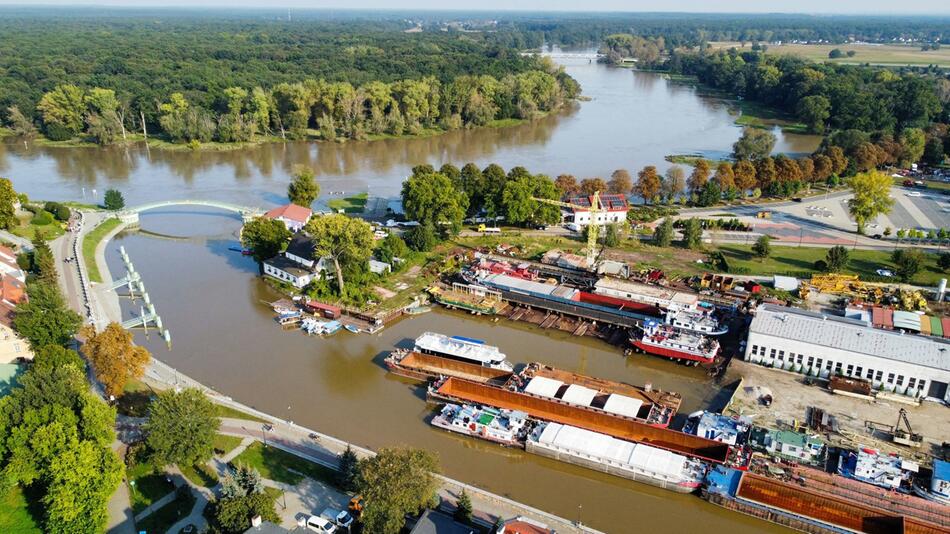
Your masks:
{"label": "long pale grey roof of the white warehouse", "polygon": [[950,371],[947,341],[870,328],[861,321],[836,315],[763,304],[756,311],[749,333]]}

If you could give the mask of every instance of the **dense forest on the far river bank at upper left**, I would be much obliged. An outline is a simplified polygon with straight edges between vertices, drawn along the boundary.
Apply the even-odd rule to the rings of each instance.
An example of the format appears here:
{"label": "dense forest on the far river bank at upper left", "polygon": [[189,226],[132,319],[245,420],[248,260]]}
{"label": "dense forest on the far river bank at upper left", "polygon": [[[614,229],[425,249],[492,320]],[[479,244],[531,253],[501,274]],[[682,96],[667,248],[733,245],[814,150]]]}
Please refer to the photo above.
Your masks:
{"label": "dense forest on the far river bank at upper left", "polygon": [[14,11],[0,19],[0,120],[102,144],[143,123],[173,142],[361,139],[528,119],[580,93],[552,63],[482,34],[406,27]]}

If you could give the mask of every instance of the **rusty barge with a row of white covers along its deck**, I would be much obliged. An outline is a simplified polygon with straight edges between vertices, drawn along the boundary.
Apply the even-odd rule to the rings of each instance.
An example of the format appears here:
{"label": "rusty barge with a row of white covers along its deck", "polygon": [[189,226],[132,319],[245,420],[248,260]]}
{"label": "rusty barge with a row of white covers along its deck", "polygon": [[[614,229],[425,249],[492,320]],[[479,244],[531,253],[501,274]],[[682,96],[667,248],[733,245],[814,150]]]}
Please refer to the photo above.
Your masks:
{"label": "rusty barge with a row of white covers along its deck", "polygon": [[529,364],[512,375],[505,387],[631,417],[660,428],[669,426],[683,402],[679,393],[585,376],[541,363]]}

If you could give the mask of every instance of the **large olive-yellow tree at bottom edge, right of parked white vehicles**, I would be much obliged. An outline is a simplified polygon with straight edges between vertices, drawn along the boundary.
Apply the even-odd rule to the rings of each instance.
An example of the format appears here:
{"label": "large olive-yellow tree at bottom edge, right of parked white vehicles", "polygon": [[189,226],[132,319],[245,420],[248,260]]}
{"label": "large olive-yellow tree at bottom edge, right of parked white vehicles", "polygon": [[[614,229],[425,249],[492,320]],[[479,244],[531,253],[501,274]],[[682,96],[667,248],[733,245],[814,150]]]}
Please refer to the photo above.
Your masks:
{"label": "large olive-yellow tree at bottom edge, right of parked white vehicles", "polygon": [[438,471],[436,457],[421,449],[384,448],[361,460],[358,493],[366,499],[365,531],[397,534],[402,530],[406,514],[424,510],[432,500],[437,487],[433,473]]}

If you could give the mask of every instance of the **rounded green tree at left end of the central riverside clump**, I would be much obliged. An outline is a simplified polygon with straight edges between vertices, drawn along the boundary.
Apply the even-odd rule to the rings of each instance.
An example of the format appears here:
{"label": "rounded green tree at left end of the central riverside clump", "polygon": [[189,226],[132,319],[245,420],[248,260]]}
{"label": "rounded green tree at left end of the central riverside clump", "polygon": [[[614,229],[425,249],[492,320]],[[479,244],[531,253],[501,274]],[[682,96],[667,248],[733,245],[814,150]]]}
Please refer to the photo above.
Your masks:
{"label": "rounded green tree at left end of the central riverside clump", "polygon": [[[501,200],[500,194],[498,200]],[[455,233],[465,218],[468,197],[444,174],[426,172],[413,174],[403,182],[402,205],[406,217]],[[495,208],[501,209],[502,206],[499,204]]]}

